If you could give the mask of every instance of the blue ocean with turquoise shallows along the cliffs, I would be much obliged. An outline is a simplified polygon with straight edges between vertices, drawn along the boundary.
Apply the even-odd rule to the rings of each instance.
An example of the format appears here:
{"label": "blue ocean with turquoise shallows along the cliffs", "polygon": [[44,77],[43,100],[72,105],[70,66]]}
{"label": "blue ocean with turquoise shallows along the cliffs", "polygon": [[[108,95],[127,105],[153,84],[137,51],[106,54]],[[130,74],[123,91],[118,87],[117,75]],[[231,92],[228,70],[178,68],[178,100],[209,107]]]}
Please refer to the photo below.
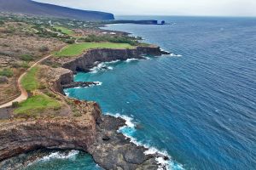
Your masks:
{"label": "blue ocean with turquoise shallows along the cliffs", "polygon": [[[75,81],[102,82],[67,89],[95,100],[104,114],[122,116],[121,133],[170,156],[170,169],[253,170],[256,167],[256,19],[122,16],[170,25],[111,25],[171,55],[102,63]],[[108,67],[108,70],[101,68]],[[27,168],[100,169],[82,152],[50,153]]]}

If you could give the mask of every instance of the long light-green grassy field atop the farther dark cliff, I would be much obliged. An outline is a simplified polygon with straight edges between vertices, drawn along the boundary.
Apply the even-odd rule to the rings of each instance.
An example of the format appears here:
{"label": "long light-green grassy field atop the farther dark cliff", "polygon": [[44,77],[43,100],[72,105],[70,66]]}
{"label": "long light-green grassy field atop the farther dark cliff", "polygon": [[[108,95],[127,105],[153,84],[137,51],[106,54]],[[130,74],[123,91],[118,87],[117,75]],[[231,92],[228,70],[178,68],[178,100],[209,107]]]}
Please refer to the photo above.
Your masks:
{"label": "long light-green grassy field atop the farther dark cliff", "polygon": [[76,56],[82,54],[85,50],[91,48],[135,48],[128,43],[113,42],[84,42],[74,43],[63,48],[60,52],[55,53],[57,57]]}

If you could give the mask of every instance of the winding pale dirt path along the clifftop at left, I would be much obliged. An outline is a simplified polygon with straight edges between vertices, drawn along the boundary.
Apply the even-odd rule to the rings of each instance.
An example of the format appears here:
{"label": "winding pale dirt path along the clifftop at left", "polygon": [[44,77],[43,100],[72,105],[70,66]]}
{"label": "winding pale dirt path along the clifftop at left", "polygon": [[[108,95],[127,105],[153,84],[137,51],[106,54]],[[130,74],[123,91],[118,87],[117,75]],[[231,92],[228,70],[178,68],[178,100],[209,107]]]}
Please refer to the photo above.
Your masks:
{"label": "winding pale dirt path along the clifftop at left", "polygon": [[21,86],[21,79],[26,75],[26,73],[28,71],[30,71],[33,67],[37,66],[40,62],[44,61],[45,59],[49,59],[49,57],[51,57],[51,55],[47,55],[46,57],[44,57],[43,59],[40,59],[38,60],[36,63],[34,63],[29,69],[27,69],[22,75],[20,75],[19,79],[18,79],[18,88],[21,92],[20,96],[17,97],[16,99],[13,99],[11,101],[9,101],[8,103],[6,104],[3,104],[3,105],[0,105],[0,108],[3,108],[3,107],[9,107],[13,104],[13,102],[21,102],[21,101],[24,101],[27,99],[28,95],[26,93],[26,89],[25,88],[22,88]]}

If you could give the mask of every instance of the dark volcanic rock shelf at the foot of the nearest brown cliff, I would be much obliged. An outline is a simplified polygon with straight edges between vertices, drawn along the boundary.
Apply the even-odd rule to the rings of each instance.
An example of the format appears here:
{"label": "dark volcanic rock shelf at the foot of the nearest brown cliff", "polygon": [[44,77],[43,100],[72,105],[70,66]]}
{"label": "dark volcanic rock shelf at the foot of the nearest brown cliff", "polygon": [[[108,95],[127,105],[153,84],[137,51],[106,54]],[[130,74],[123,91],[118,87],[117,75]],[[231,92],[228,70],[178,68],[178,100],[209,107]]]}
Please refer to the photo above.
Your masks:
{"label": "dark volcanic rock shelf at the foot of the nearest brown cliff", "polygon": [[[124,125],[123,119],[102,116],[102,122],[97,127],[96,142],[89,148],[94,160],[106,169],[157,169],[155,156],[145,155],[143,146],[137,146],[123,134],[117,133],[119,127]],[[108,140],[104,140],[106,133],[110,137]]]}

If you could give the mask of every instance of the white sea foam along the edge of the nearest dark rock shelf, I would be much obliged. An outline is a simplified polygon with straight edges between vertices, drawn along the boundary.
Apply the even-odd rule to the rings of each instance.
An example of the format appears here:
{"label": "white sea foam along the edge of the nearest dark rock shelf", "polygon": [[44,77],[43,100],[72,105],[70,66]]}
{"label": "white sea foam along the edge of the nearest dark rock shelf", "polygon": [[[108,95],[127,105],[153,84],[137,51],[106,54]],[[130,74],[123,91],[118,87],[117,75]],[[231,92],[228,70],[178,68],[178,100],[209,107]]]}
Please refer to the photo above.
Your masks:
{"label": "white sea foam along the edge of the nearest dark rock shelf", "polygon": [[[125,138],[130,139],[131,143],[136,144],[137,146],[143,146],[144,148],[148,149],[145,150],[146,155],[154,155],[157,154],[158,156],[155,158],[155,161],[158,162],[158,169],[164,170],[164,169],[175,169],[175,170],[183,170],[183,166],[180,164],[177,164],[176,162],[172,161],[171,156],[168,155],[166,150],[159,150],[149,144],[143,144],[140,141],[137,141],[136,138],[132,136],[133,133],[136,132],[136,123],[133,122],[133,118],[130,116],[120,115],[119,113],[112,114],[112,113],[105,113],[106,115],[114,116],[114,117],[121,117],[125,120],[125,126],[120,127],[118,132],[123,133]],[[165,160],[164,157],[168,157],[169,160]]]}

